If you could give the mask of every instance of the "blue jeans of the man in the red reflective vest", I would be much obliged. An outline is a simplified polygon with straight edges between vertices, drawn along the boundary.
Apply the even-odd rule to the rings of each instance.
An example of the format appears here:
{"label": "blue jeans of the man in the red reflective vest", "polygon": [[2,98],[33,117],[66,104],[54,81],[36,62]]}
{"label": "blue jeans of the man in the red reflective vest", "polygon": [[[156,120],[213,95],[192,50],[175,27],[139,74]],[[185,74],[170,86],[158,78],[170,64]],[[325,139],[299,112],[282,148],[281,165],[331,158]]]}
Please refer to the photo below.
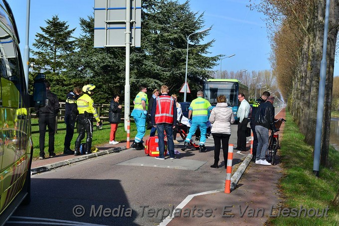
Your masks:
{"label": "blue jeans of the man in the red reflective vest", "polygon": [[164,131],[167,135],[167,150],[169,151],[169,157],[174,158],[174,142],[173,142],[173,127],[172,124],[169,123],[159,123],[157,124],[157,131],[159,137],[159,157],[165,158],[165,135]]}

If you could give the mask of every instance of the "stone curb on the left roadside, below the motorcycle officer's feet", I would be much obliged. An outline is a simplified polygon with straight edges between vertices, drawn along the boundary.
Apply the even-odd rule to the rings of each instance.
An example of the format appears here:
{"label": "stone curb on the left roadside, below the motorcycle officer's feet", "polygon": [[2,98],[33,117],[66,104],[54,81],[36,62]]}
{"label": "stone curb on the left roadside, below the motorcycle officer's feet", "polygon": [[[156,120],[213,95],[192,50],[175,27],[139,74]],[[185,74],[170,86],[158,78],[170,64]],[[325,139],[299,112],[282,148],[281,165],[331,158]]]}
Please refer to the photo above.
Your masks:
{"label": "stone curb on the left roadside, below the motorcycle officer's feet", "polygon": [[106,154],[110,154],[110,153],[114,153],[114,152],[120,152],[122,150],[126,150],[126,147],[125,146],[113,147],[113,148],[109,148],[109,149],[104,150],[104,151],[99,151],[99,152],[91,153],[91,154],[88,154],[88,155],[80,155],[80,156],[75,157],[75,158],[70,158],[70,159],[55,162],[55,163],[52,163],[52,164],[49,164],[49,165],[32,168],[30,170],[30,174],[34,175],[34,174],[37,174],[37,173],[47,172],[47,171],[50,171],[52,169],[55,169],[55,168],[58,168],[58,167],[61,167],[61,166],[67,166],[67,165],[70,165],[72,163],[80,162],[80,161],[83,161],[83,160],[86,160],[86,159],[90,159],[90,158],[94,158],[94,157],[98,157],[98,156],[101,156],[101,155],[106,155]]}

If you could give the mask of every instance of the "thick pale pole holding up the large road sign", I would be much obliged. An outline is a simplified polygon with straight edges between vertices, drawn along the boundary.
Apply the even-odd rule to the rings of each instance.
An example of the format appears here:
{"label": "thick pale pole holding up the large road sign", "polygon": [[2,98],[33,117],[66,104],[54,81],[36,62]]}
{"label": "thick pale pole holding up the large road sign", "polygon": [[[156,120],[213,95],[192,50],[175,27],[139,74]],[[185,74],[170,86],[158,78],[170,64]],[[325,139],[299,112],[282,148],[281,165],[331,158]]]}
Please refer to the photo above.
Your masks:
{"label": "thick pale pole holding up the large road sign", "polygon": [[131,51],[131,1],[126,0],[126,84],[125,84],[125,131],[130,120],[130,51]]}

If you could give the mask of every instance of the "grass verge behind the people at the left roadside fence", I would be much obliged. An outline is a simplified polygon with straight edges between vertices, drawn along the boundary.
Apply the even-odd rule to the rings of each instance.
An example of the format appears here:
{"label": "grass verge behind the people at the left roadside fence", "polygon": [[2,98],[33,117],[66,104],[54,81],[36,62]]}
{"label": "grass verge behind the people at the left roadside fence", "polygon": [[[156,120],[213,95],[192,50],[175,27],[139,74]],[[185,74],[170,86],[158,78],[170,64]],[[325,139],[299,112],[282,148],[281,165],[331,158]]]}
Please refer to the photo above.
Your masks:
{"label": "grass verge behind the people at the left roadside fence", "polygon": [[[32,118],[32,123],[37,123],[37,119]],[[61,123],[58,124],[58,128],[65,128],[66,125]],[[33,129],[33,128],[32,128]],[[33,130],[39,130],[38,126]],[[74,130],[75,131],[75,130]],[[96,126],[94,125],[93,138],[92,138],[92,146],[101,146],[103,144],[107,144],[110,141],[110,131],[111,125],[103,125],[102,129],[96,130]],[[150,134],[151,130],[146,130],[146,135]],[[132,121],[130,127],[130,140],[133,140],[135,135],[137,134],[136,124]],[[64,149],[64,140],[65,140],[66,130],[60,130],[55,134],[54,148],[56,154],[62,154]],[[78,133],[74,132],[73,139],[71,141],[71,149],[74,150],[75,140],[78,137]],[[126,141],[127,132],[124,128],[124,121],[119,123],[118,130],[116,132],[116,141]],[[33,139],[33,158],[36,159],[39,157],[39,133],[32,134]],[[145,141],[145,140],[144,140]],[[82,143],[86,142],[85,138],[82,140]],[[113,147],[113,145],[112,145]],[[45,135],[45,153],[48,155],[48,132]]]}

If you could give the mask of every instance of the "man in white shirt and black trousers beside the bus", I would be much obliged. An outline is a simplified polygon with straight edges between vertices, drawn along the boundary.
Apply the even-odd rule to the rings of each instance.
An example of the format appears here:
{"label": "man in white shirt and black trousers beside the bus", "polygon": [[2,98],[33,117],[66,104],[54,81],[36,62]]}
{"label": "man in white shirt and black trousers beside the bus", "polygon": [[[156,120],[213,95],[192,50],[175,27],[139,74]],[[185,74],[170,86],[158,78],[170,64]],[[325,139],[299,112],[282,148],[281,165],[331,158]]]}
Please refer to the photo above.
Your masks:
{"label": "man in white shirt and black trousers beside the bus", "polygon": [[238,95],[238,100],[240,101],[240,106],[238,108],[237,117],[238,117],[238,140],[237,147],[234,148],[240,151],[246,151],[246,129],[248,122],[248,114],[250,113],[250,104],[245,100],[245,95],[240,93]]}

